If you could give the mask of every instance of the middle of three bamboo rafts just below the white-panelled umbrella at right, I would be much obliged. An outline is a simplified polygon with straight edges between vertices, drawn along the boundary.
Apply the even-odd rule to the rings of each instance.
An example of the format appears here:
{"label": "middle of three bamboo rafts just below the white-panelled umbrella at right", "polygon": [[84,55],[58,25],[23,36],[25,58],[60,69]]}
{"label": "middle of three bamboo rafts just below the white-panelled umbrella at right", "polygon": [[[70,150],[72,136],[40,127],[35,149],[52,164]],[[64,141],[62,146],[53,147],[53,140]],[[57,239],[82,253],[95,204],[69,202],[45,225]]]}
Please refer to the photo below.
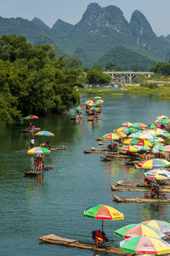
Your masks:
{"label": "middle of three bamboo rafts just below the white-panelled umbrella at right", "polygon": [[[111,186],[111,190],[113,191],[137,191],[137,192],[150,192],[151,191],[151,188],[148,188],[148,187],[138,187],[138,188],[135,188],[135,187],[130,187],[130,188],[127,188],[127,187],[120,187],[120,186],[114,186],[112,185]],[[160,188],[160,191],[161,192],[166,192],[166,193],[170,193],[170,188]]]}

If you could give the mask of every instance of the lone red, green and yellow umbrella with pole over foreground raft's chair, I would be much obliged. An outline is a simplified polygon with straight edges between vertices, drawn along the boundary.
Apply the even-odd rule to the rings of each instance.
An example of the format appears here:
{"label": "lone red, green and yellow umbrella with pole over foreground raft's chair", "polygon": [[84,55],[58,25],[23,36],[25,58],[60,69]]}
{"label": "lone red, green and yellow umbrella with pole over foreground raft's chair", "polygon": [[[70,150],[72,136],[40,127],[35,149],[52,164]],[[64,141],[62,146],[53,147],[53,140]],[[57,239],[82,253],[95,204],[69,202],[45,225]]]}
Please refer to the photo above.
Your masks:
{"label": "lone red, green and yellow umbrella with pole over foreground raft's chair", "polygon": [[86,208],[83,212],[84,217],[94,218],[96,220],[102,220],[102,231],[103,231],[103,220],[122,220],[124,219],[123,213],[116,210],[111,206],[98,205]]}

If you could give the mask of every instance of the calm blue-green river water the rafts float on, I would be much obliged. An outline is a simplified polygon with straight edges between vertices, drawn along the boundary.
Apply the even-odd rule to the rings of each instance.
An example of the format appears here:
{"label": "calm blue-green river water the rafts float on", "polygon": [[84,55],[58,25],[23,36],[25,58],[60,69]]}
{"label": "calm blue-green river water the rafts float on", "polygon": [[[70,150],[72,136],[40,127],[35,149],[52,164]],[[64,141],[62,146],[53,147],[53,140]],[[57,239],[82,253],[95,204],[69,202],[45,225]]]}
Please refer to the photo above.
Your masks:
{"label": "calm blue-green river water the rafts float on", "polygon": [[[86,100],[81,97],[81,105]],[[45,164],[54,168],[42,176],[24,176],[33,165],[33,157],[23,153],[32,135],[18,126],[3,126],[1,141],[0,255],[51,256],[95,255],[90,250],[62,247],[41,242],[42,235],[55,234],[75,240],[91,240],[91,231],[101,228],[101,220],[84,218],[89,206],[106,204],[120,210],[124,220],[104,221],[106,234],[120,241],[114,230],[144,220],[169,220],[169,206],[157,204],[115,203],[111,185],[122,179],[143,181],[141,170],[125,166],[123,161],[102,161],[101,154],[83,153],[98,147],[95,137],[111,132],[123,122],[151,124],[157,116],[169,116],[170,102],[151,97],[103,97],[102,119],[98,122],[70,120],[65,115],[51,115],[35,120],[35,126],[55,134],[52,147],[67,146],[67,151],[55,151],[45,156]],[[82,111],[83,112],[83,111]],[[24,127],[24,124],[23,124]],[[35,143],[47,137],[36,137]],[[116,192],[118,196],[142,197],[143,193]],[[104,255],[104,253],[98,253]]]}

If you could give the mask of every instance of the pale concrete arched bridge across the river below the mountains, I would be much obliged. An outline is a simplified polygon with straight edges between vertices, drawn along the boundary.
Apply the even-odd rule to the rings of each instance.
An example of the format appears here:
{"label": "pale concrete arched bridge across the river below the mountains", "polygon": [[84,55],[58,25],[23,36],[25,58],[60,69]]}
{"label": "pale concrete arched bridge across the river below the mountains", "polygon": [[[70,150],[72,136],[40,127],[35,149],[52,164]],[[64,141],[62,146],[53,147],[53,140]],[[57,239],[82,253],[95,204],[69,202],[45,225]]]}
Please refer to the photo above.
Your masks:
{"label": "pale concrete arched bridge across the river below the mountains", "polygon": [[112,78],[112,83],[113,81],[115,80],[115,78],[118,76],[118,75],[123,75],[124,76],[124,79],[125,79],[125,76],[129,78],[129,81],[130,83],[132,82],[132,78],[135,77],[135,75],[145,75],[147,76],[148,78],[151,77],[151,75],[153,75],[154,73],[152,72],[130,72],[130,71],[110,71],[110,72],[104,72],[105,74],[107,75],[110,75],[111,78]]}

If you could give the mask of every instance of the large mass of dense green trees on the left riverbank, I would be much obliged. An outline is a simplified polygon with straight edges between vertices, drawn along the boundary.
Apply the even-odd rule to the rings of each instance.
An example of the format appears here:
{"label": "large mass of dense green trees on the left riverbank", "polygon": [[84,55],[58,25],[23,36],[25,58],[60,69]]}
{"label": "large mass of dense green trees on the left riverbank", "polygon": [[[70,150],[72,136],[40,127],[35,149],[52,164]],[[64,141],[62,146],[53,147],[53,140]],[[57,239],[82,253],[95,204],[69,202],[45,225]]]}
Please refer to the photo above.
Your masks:
{"label": "large mass of dense green trees on the left riverbank", "polygon": [[[31,46],[23,36],[0,38],[0,120],[61,113],[79,104],[79,70],[52,46]],[[75,60],[74,60],[75,62]]]}

